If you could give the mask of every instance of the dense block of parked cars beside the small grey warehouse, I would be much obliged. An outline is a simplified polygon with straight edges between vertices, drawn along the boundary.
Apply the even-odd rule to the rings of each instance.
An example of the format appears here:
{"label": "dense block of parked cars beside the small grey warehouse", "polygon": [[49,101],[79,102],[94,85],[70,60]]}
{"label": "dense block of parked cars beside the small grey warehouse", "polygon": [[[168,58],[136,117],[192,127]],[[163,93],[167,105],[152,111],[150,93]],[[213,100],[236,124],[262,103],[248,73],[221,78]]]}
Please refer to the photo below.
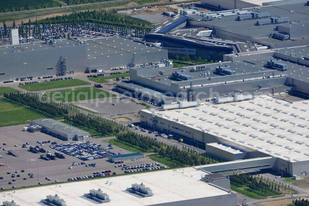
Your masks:
{"label": "dense block of parked cars beside the small grey warehouse", "polygon": [[85,142],[72,142],[65,144],[50,145],[50,148],[56,149],[67,155],[74,156],[82,161],[101,159],[112,155],[117,155],[116,153],[109,150],[111,147],[101,148],[100,144]]}

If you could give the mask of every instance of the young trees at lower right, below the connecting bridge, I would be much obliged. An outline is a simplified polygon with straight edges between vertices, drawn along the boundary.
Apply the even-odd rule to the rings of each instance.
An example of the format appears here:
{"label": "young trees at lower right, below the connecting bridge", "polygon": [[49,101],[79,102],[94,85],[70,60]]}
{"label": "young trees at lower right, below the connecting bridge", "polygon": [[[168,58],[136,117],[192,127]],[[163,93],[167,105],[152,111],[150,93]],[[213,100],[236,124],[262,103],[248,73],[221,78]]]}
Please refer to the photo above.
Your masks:
{"label": "young trees at lower right, below the connecting bridge", "polygon": [[236,186],[246,185],[251,189],[253,193],[256,193],[256,195],[261,195],[263,197],[281,194],[280,193],[281,186],[279,184],[263,180],[262,176],[259,178],[253,176],[252,174],[231,175],[230,181],[231,184]]}

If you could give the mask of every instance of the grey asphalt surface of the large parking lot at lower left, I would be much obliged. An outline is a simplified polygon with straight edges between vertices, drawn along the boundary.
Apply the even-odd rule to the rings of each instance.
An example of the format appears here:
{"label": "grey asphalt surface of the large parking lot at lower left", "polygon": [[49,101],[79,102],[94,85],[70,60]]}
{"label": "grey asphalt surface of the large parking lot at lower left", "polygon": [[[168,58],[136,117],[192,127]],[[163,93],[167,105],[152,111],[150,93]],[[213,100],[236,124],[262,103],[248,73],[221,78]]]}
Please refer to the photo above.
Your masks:
{"label": "grey asphalt surface of the large parking lot at lower left", "polygon": [[[115,167],[114,163],[108,162],[108,158],[101,158],[101,159],[93,159],[93,160],[87,160],[82,161],[74,156],[70,156],[65,154],[65,159],[56,158],[56,160],[50,160],[46,161],[44,159],[40,159],[40,154],[46,154],[46,153],[32,153],[29,150],[30,146],[36,146],[40,145],[37,143],[37,141],[51,141],[50,143],[44,143],[44,145],[40,145],[41,148],[44,148],[46,151],[50,151],[51,154],[54,154],[54,152],[59,152],[53,148],[50,148],[49,146],[52,145],[51,143],[56,141],[56,139],[52,136],[46,135],[44,133],[38,132],[38,133],[28,133],[25,131],[22,131],[23,125],[19,126],[10,126],[10,127],[1,127],[0,128],[0,146],[3,148],[5,147],[6,150],[0,150],[0,155],[2,155],[3,158],[0,159],[0,163],[5,164],[5,166],[0,167],[0,177],[3,177],[3,179],[0,179],[0,187],[5,187],[5,189],[12,188],[13,185],[15,185],[17,188],[22,186],[30,186],[30,185],[37,185],[38,182],[50,183],[55,182],[57,179],[59,182],[67,181],[69,178],[77,178],[77,177],[84,177],[84,176],[94,176],[94,172],[97,175],[97,172],[99,174],[104,174],[105,171],[113,175],[113,173],[116,174],[123,174],[124,170],[121,170],[122,167]],[[95,142],[96,144],[101,144],[101,148],[107,148],[108,143],[103,141],[102,139],[88,139],[91,143]],[[87,141],[87,140],[85,140]],[[22,148],[22,145],[25,142],[29,142],[28,148]],[[72,141],[71,141],[72,142]],[[6,145],[2,145],[3,143],[6,143]],[[67,141],[62,141],[57,139],[57,144],[64,144],[67,143]],[[18,145],[15,147],[15,145]],[[55,144],[53,144],[55,145]],[[7,151],[12,150],[14,153],[18,155],[18,157],[14,157],[12,155],[8,155]],[[108,151],[113,153],[121,152],[123,154],[131,153],[125,149],[113,146],[113,149],[108,149]],[[87,162],[86,164],[78,164],[78,165],[72,165],[73,162],[81,163],[81,162]],[[91,166],[91,164],[96,163],[96,167]],[[121,164],[126,164],[128,166],[133,166],[138,170],[138,165],[144,165],[146,168],[146,164],[154,163],[154,161],[150,160],[149,158],[145,158],[142,160],[136,160],[136,161],[128,161]],[[89,165],[90,164],[90,165]],[[117,164],[119,165],[119,164]],[[164,166],[161,164],[161,166]],[[69,169],[69,167],[72,167],[72,169]],[[153,167],[158,167],[153,166]],[[144,169],[145,169],[144,168]],[[148,167],[149,168],[149,167]],[[151,167],[150,167],[151,168]],[[140,168],[141,170],[142,168]],[[21,170],[24,170],[22,172]],[[15,171],[19,171],[18,173],[15,173]],[[102,173],[104,171],[104,173]],[[110,171],[110,172],[109,172]],[[6,174],[7,172],[10,172],[11,174]],[[30,175],[28,173],[34,173],[33,178],[30,178]],[[11,175],[15,174],[15,177],[12,178]],[[17,175],[20,175],[20,177],[17,177]],[[23,178],[27,179],[23,179]],[[45,179],[46,177],[51,178],[51,180]],[[89,177],[88,177],[89,178]],[[15,179],[13,182],[12,180]],[[8,184],[8,182],[12,182],[12,184]]]}

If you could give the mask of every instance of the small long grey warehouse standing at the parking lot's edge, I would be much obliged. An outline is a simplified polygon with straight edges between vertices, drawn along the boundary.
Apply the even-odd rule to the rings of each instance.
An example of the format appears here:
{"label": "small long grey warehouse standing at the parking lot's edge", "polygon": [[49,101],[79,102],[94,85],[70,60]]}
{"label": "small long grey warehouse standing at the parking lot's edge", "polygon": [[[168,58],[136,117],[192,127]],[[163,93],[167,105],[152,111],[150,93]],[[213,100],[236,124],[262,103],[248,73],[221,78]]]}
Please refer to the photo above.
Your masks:
{"label": "small long grey warehouse standing at the parking lot's edge", "polygon": [[41,132],[65,141],[81,141],[90,137],[89,132],[53,119],[40,118],[30,122],[30,127],[36,125],[40,125],[42,127]]}

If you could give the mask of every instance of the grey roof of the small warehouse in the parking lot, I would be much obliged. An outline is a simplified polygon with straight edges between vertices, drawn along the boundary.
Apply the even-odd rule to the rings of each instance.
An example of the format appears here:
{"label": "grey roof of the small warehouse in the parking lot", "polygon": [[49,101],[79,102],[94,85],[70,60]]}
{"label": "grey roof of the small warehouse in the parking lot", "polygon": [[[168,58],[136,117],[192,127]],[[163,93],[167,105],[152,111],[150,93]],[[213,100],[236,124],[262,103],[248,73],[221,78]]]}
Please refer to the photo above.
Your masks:
{"label": "grey roof of the small warehouse in the parking lot", "polygon": [[71,127],[70,125],[67,125],[66,123],[53,120],[53,119],[46,119],[46,118],[40,118],[37,120],[31,121],[32,125],[41,125],[43,127],[52,129],[53,131],[56,131],[57,134],[65,134],[65,135],[71,135],[71,134],[84,134],[89,135],[89,132],[83,131],[81,129],[78,129],[76,127]]}

